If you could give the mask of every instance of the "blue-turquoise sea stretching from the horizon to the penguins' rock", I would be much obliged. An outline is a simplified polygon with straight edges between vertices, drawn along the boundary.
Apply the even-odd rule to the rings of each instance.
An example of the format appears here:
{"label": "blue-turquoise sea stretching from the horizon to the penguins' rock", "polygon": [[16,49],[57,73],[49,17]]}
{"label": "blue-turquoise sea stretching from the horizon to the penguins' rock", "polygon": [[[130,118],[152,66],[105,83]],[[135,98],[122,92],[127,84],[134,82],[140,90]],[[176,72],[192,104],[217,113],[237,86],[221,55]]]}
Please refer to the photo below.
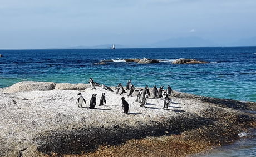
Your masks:
{"label": "blue-turquoise sea stretching from the horizon to the penguins' rock", "polygon": [[[0,87],[22,80],[106,85],[168,84],[180,92],[256,102],[256,47],[0,50]],[[162,59],[158,64],[122,62],[124,58]],[[209,64],[175,65],[194,58]],[[107,65],[93,65],[113,59]]]}

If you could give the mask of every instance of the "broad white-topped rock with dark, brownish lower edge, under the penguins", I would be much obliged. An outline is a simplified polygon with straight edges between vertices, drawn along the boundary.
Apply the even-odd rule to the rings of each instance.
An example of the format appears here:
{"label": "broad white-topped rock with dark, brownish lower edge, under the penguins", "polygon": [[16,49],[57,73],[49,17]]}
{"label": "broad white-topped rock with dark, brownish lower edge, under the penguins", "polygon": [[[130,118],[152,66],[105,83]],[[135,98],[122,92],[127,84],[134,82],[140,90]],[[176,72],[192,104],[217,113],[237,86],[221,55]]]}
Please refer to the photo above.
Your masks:
{"label": "broad white-topped rock with dark, brownish lower edge, under the penguins", "polygon": [[[150,98],[148,108],[142,108],[136,96],[126,93],[131,114],[124,115],[121,96],[101,87],[3,93],[6,89],[0,90],[4,122],[0,141],[5,143],[0,156],[20,152],[23,156],[122,156],[127,150],[131,151],[128,156],[185,156],[230,144],[240,131],[256,128],[255,114],[243,111],[255,111],[254,102],[174,92],[166,111],[161,109],[162,99]],[[106,92],[107,105],[96,105],[95,110],[77,108],[73,97],[78,92],[86,97],[86,107],[92,93],[98,94],[99,104],[101,93]]]}

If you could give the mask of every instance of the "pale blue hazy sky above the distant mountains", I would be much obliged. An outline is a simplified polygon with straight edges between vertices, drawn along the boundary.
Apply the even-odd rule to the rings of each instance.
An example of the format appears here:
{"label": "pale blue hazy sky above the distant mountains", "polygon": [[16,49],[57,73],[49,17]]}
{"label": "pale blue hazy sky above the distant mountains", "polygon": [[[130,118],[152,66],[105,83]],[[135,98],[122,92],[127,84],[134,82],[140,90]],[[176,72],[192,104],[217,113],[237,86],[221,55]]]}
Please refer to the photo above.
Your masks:
{"label": "pale blue hazy sky above the distant mountains", "polygon": [[255,0],[0,0],[0,49],[256,36]]}

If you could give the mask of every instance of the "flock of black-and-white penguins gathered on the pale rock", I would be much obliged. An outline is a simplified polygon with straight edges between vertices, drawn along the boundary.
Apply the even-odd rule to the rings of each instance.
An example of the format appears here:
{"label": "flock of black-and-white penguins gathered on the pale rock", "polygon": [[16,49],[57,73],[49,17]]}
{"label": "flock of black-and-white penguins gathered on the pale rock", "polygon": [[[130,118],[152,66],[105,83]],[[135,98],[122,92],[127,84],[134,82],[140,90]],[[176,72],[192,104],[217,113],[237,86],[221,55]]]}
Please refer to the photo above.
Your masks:
{"label": "flock of black-and-white penguins gathered on the pale rock", "polygon": [[[114,92],[114,90],[112,90],[110,87],[108,87],[105,84],[99,84],[96,83],[92,78],[89,79],[88,81],[90,83],[90,87],[92,90],[96,90],[96,86],[102,87],[102,89],[110,91],[110,92]],[[130,90],[128,97],[133,97],[133,94],[135,92],[135,87],[133,84],[131,84],[131,80],[129,79],[127,84],[126,84],[126,90],[124,89],[124,86],[119,83],[116,87],[116,94],[117,95],[122,95],[124,93],[127,93],[126,90]],[[137,91],[137,90],[136,90]],[[163,109],[169,110],[168,107],[171,104],[171,93],[173,93],[173,90],[171,89],[170,85],[168,85],[167,89],[164,89],[164,86],[160,86],[159,90],[156,88],[156,85],[154,85],[153,89],[152,89],[152,97],[155,98],[163,98],[163,102],[164,102],[164,107]],[[104,104],[106,104],[106,93],[102,93],[101,94],[101,99],[100,99],[100,104],[99,106],[102,106]],[[78,93],[78,99],[76,101],[76,104],[78,107],[82,107],[83,102],[86,104],[86,100],[85,98],[83,98],[81,93]],[[89,105],[89,109],[95,109],[96,106],[96,95],[97,94],[92,94],[91,100],[90,100],[90,105]],[[147,104],[147,100],[150,97],[150,92],[149,92],[149,87],[146,85],[144,89],[140,89],[135,102],[140,103],[140,107],[145,107],[146,108],[146,104]],[[129,103],[125,100],[125,97],[121,97],[122,100],[122,109],[124,110],[125,114],[128,114],[129,112]]]}

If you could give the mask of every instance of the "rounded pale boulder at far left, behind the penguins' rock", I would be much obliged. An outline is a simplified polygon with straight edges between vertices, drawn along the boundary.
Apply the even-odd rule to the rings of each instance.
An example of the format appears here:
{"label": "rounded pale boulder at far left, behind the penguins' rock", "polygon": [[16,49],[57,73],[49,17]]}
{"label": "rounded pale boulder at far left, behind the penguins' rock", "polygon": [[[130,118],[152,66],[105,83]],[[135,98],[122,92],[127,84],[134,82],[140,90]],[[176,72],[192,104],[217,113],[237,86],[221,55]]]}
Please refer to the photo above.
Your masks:
{"label": "rounded pale boulder at far left, behind the penguins' rock", "polygon": [[53,90],[55,89],[55,85],[56,84],[54,82],[23,81],[13,84],[11,87],[6,88],[4,92],[14,93],[34,90]]}

